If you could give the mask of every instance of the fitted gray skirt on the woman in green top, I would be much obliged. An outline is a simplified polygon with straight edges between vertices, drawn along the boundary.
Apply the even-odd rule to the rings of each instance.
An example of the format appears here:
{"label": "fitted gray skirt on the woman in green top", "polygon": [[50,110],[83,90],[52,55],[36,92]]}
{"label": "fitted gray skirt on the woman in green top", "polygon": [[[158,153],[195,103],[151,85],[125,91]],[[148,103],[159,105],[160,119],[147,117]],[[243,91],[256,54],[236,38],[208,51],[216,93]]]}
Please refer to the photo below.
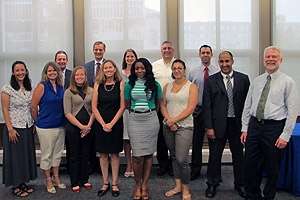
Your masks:
{"label": "fitted gray skirt on the woman in green top", "polygon": [[145,156],[156,151],[159,121],[156,111],[149,113],[130,112],[128,136],[133,156]]}

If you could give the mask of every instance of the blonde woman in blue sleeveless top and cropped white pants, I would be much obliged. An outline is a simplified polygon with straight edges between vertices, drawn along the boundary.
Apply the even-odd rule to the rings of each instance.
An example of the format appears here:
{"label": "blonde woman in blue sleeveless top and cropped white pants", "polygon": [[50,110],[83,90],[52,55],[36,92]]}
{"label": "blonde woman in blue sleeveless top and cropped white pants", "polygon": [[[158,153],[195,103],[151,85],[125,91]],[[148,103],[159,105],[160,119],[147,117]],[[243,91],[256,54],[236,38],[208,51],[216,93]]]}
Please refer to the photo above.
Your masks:
{"label": "blonde woman in blue sleeveless top and cropped white pants", "polygon": [[[40,168],[46,178],[49,193],[56,193],[52,181],[58,188],[66,186],[59,179],[59,165],[65,144],[65,116],[63,108],[64,88],[62,72],[55,62],[48,62],[43,71],[41,82],[33,92],[31,114],[36,121],[36,131],[40,141]],[[52,168],[53,176],[50,177]]]}

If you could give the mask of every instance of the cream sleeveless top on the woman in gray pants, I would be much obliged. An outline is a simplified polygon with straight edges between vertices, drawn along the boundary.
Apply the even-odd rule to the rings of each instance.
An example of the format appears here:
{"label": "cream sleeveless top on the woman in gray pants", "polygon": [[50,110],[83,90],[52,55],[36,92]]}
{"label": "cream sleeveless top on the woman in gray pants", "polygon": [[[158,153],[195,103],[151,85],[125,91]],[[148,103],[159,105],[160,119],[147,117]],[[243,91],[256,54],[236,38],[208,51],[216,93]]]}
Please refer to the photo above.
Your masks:
{"label": "cream sleeveless top on the woman in gray pants", "polygon": [[[171,118],[178,116],[188,107],[191,82],[187,81],[177,93],[171,93],[173,82],[168,84],[166,88],[167,110]],[[184,120],[177,122],[180,127],[192,127],[193,117],[189,115]]]}

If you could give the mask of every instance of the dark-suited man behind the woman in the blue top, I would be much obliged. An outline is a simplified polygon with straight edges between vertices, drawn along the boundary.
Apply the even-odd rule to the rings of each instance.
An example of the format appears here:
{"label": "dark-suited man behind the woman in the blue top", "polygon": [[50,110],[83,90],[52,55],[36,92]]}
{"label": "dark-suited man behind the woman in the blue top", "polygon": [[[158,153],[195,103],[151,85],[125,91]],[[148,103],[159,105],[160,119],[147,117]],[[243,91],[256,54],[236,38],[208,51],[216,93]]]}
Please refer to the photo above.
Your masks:
{"label": "dark-suited man behind the woman in the blue top", "polygon": [[56,52],[54,60],[59,65],[61,72],[63,73],[63,86],[66,90],[70,86],[70,76],[72,73],[71,70],[67,69],[68,55],[65,51],[59,50]]}

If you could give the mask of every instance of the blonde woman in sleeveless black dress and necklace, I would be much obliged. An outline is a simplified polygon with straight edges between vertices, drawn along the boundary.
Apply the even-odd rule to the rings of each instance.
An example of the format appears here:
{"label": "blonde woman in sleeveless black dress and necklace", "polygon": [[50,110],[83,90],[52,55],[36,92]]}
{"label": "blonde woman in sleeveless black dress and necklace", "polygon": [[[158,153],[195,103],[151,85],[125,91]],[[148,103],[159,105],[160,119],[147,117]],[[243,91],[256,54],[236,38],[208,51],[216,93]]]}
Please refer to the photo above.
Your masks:
{"label": "blonde woman in sleeveless black dress and necklace", "polygon": [[119,196],[119,153],[123,150],[124,82],[117,65],[112,60],[103,62],[94,84],[92,110],[95,115],[95,149],[100,153],[103,185],[98,196],[110,189],[108,157],[111,157],[112,196]]}

